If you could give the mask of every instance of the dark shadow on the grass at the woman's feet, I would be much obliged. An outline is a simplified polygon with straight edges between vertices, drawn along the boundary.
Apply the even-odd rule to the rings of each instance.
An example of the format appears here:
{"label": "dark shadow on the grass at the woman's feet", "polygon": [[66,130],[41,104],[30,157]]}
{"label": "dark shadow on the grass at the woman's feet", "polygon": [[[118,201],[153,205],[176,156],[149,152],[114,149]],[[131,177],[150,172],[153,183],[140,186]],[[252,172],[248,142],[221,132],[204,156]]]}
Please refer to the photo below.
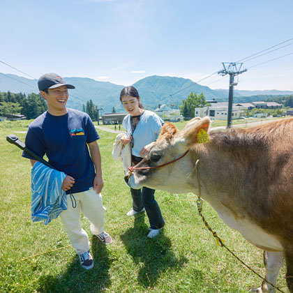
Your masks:
{"label": "dark shadow on the grass at the woman's feet", "polygon": [[137,216],[134,227],[126,230],[120,237],[135,264],[144,263],[138,273],[138,282],[144,287],[153,287],[161,273],[167,269],[178,271],[188,260],[186,257],[176,258],[164,230],[153,239],[147,238],[148,232],[144,215]]}

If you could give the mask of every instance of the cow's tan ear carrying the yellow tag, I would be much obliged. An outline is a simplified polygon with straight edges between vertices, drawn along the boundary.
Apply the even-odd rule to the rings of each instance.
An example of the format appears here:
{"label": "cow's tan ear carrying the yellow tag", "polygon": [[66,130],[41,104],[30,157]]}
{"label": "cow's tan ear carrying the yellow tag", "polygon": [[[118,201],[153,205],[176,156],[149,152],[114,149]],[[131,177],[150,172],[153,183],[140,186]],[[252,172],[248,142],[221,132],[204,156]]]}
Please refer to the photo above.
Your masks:
{"label": "cow's tan ear carrying the yellow tag", "polygon": [[204,117],[200,120],[193,119],[186,124],[183,130],[181,130],[181,135],[183,136],[183,140],[188,145],[188,147],[198,143],[197,135],[199,131],[203,129],[207,133],[209,131],[210,124],[211,120],[209,117]]}

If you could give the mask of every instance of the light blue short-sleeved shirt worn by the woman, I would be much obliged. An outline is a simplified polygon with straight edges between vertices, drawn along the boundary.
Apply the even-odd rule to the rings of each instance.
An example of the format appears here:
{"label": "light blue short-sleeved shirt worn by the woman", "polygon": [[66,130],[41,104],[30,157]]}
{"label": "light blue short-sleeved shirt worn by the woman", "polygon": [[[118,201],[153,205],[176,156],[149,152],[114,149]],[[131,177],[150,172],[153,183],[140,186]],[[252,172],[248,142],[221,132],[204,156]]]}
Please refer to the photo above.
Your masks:
{"label": "light blue short-sleeved shirt worn by the woman", "polygon": [[158,138],[163,123],[164,121],[156,113],[145,110],[140,117],[140,122],[132,133],[130,114],[124,117],[122,126],[126,129],[128,137],[131,134],[133,135],[134,144],[131,150],[133,156],[140,157],[140,150]]}

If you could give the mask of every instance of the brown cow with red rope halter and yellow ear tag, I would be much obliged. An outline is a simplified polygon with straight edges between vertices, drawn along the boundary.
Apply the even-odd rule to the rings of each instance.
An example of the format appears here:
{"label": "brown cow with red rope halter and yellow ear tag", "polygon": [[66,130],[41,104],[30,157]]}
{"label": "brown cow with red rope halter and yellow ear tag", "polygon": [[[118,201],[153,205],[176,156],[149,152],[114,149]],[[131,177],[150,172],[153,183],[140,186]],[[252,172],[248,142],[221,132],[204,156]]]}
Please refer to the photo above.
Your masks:
{"label": "brown cow with red rope halter and yellow ear tag", "polygon": [[[293,119],[246,129],[209,132],[199,144],[197,133],[209,130],[211,121],[193,119],[179,131],[165,123],[149,156],[135,167],[126,182],[132,188],[147,186],[171,193],[198,194],[195,162],[200,159],[202,197],[224,222],[264,251],[266,280],[276,285],[283,255],[287,286],[293,293]],[[276,292],[266,283],[256,292]]]}

